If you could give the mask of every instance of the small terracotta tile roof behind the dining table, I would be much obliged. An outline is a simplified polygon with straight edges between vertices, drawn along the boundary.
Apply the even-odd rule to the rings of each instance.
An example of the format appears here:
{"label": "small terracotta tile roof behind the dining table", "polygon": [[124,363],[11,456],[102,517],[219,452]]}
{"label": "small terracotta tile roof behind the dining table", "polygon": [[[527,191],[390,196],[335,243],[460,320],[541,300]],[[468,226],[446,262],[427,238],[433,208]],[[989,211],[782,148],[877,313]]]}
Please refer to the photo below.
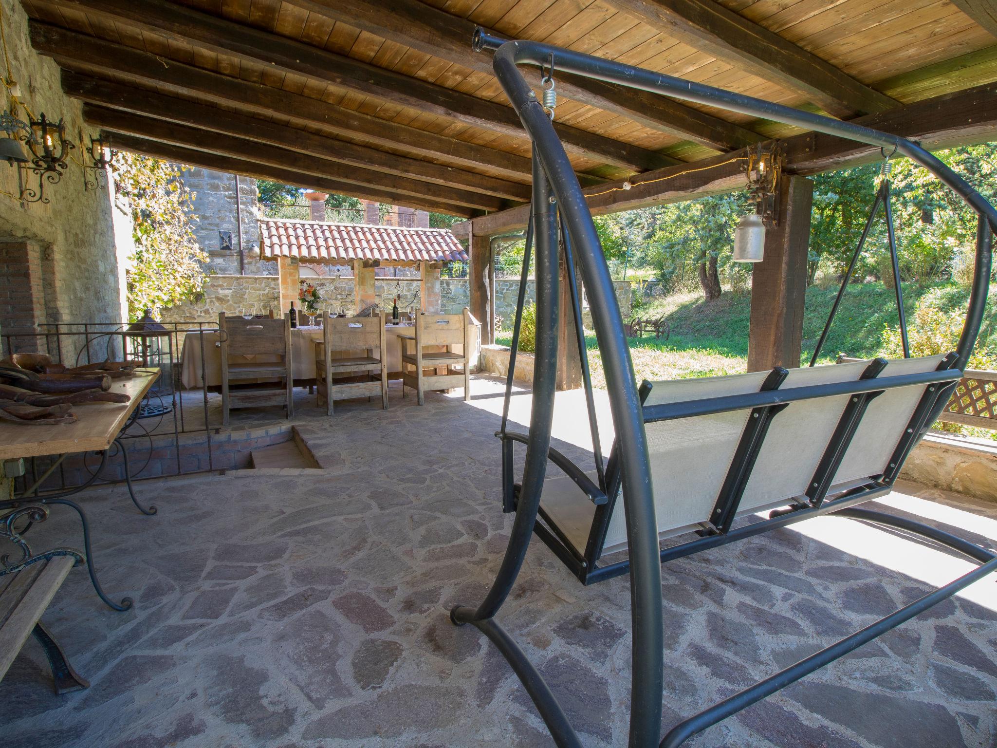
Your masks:
{"label": "small terracotta tile roof behind the dining table", "polygon": [[449,228],[261,218],[259,243],[264,257],[298,257],[319,262],[351,259],[445,262],[468,259],[468,253]]}

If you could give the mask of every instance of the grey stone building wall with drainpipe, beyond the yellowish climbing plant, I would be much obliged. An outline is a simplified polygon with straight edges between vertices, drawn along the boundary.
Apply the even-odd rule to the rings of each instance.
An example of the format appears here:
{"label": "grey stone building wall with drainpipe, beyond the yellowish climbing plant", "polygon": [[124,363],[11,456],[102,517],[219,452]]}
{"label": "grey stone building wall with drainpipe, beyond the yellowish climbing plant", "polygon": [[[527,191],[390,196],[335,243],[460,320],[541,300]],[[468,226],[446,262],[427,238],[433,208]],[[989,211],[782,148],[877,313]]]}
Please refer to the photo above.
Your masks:
{"label": "grey stone building wall with drainpipe, beyond the yellowish climbing plant", "polygon": [[[276,275],[277,263],[259,257],[259,224],[256,219],[256,180],[239,178],[238,197],[235,176],[209,169],[193,168],[183,173],[183,184],[194,194],[193,214],[197,218],[193,234],[208,253],[207,269],[219,275],[239,274],[239,233],[237,206],[242,206],[244,274]],[[219,232],[231,234],[231,249],[221,247]]]}

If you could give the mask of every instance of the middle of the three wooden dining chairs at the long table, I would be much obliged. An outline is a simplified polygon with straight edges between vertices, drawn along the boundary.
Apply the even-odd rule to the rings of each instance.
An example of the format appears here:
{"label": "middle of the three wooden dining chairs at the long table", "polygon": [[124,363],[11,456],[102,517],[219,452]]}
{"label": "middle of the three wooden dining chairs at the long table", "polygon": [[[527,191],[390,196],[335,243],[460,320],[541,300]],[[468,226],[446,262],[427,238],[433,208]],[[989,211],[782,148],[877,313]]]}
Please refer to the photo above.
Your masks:
{"label": "middle of the three wooden dining chairs at the long table", "polygon": [[315,341],[315,403],[325,403],[330,416],[334,400],[354,397],[380,395],[381,407],[388,410],[384,326],[384,312],[371,317],[330,317],[322,312],[322,340]]}

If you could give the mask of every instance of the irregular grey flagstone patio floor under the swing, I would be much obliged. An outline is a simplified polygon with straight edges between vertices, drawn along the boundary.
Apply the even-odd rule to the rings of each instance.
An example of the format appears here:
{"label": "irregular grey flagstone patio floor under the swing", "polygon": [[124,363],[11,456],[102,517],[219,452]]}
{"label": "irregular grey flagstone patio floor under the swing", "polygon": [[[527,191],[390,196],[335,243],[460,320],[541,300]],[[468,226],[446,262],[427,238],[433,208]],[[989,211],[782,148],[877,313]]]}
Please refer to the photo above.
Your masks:
{"label": "irregular grey flagstone patio floor under the swing", "polygon": [[[337,404],[331,420],[298,423],[323,470],[140,484],[157,517],[121,488],[82,495],[104,586],[136,606],[114,612],[84,569],[70,574],[44,620],[92,687],[54,696],[29,641],[0,682],[4,744],[552,745],[497,650],[447,616],[482,599],[511,523],[498,505],[498,385],[477,379],[474,392],[419,408],[393,388],[387,412]],[[528,395],[514,400],[522,423]],[[585,429],[570,418],[558,447],[582,459]],[[997,504],[902,491],[880,506],[997,539]],[[846,520],[796,528],[663,567],[665,726],[969,568]],[[32,534],[38,548],[80,544],[64,508]],[[583,587],[534,540],[500,618],[583,743],[625,745],[627,578]],[[997,745],[995,691],[987,579],[688,745],[985,748]]]}

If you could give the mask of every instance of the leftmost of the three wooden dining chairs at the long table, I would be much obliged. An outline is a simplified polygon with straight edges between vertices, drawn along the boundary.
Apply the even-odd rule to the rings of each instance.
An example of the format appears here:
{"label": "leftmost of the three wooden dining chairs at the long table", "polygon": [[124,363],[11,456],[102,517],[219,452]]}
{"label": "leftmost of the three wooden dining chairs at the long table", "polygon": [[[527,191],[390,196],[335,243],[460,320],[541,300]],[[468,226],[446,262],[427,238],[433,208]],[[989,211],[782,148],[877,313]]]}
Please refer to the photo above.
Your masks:
{"label": "leftmost of the three wooden dining chairs at the long table", "polygon": [[[226,317],[222,312],[218,315],[218,330],[222,425],[228,425],[232,408],[283,405],[290,418],[294,414],[290,316],[245,319]],[[279,382],[277,387],[272,386],[275,382]]]}

